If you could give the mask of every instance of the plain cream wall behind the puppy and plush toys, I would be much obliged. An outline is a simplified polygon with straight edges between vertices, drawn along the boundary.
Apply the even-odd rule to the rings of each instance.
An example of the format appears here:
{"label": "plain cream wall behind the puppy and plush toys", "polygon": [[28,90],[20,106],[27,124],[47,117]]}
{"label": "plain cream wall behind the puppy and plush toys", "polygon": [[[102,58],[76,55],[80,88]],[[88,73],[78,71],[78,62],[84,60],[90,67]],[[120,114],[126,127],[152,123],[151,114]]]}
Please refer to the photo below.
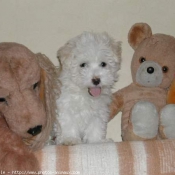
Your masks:
{"label": "plain cream wall behind the puppy and plush toys", "polygon": [[[83,31],[106,31],[123,43],[118,90],[131,82],[130,27],[146,22],[153,33],[175,36],[175,0],[0,0],[0,42],[18,42],[46,54],[56,52]],[[108,125],[108,137],[120,141],[120,115]]]}

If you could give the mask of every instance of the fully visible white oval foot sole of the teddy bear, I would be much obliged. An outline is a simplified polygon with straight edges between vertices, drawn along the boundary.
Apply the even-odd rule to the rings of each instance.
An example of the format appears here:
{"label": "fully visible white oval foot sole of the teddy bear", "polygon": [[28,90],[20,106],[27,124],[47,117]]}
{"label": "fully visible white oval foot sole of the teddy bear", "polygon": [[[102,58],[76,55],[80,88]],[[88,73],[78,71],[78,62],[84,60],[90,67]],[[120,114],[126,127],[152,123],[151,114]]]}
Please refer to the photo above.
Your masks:
{"label": "fully visible white oval foot sole of the teddy bear", "polygon": [[159,116],[153,103],[137,102],[131,112],[131,122],[135,135],[151,139],[157,135]]}

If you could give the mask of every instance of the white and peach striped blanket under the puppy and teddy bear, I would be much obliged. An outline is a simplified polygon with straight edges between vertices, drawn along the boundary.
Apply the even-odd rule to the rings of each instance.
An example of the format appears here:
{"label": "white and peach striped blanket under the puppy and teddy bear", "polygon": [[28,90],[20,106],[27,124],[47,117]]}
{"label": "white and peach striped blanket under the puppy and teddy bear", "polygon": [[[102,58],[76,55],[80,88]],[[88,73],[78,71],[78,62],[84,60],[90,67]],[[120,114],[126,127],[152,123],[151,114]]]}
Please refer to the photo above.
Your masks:
{"label": "white and peach striped blanket under the puppy and teddy bear", "polygon": [[175,174],[175,140],[47,146],[35,154],[43,174]]}

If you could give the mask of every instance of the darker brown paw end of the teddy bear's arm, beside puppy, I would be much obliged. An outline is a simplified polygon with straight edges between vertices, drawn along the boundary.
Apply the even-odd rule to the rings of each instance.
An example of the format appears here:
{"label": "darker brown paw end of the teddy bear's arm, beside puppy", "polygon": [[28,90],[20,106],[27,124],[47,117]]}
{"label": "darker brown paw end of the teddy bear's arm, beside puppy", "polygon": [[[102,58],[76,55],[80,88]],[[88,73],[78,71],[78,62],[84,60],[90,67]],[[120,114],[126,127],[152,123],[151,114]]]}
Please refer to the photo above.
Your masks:
{"label": "darker brown paw end of the teddy bear's arm, beside puppy", "polygon": [[113,93],[112,102],[110,104],[110,120],[122,110],[123,104],[122,93],[120,91]]}

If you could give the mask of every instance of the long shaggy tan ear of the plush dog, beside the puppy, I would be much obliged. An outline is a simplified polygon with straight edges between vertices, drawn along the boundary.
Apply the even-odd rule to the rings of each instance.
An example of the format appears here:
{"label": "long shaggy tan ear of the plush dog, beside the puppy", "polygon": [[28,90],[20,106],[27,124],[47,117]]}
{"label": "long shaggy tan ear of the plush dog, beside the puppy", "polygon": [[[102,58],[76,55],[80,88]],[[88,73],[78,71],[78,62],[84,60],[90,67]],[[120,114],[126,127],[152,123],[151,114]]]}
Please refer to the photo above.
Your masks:
{"label": "long shaggy tan ear of the plush dog, beside the puppy", "polygon": [[37,62],[40,66],[40,98],[46,110],[46,126],[41,134],[34,138],[32,147],[40,148],[50,135],[53,123],[56,121],[57,105],[61,84],[58,80],[60,70],[43,54],[36,54]]}

